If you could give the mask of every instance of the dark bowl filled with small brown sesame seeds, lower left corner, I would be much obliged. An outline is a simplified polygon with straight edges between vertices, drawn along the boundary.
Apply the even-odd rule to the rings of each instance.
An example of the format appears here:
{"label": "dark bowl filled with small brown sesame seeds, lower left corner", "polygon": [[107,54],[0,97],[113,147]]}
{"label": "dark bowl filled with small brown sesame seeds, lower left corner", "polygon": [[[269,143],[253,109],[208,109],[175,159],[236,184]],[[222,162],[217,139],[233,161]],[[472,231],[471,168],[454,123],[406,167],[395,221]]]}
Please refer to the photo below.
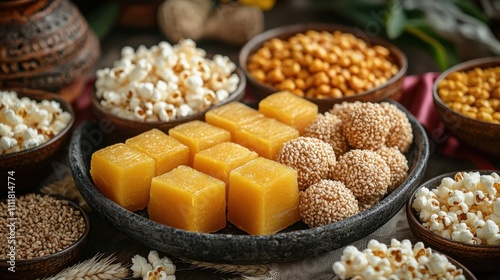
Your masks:
{"label": "dark bowl filled with small brown sesame seeds, lower left corner", "polygon": [[5,240],[0,245],[0,278],[50,277],[80,256],[90,237],[90,219],[77,203],[35,193],[0,202]]}

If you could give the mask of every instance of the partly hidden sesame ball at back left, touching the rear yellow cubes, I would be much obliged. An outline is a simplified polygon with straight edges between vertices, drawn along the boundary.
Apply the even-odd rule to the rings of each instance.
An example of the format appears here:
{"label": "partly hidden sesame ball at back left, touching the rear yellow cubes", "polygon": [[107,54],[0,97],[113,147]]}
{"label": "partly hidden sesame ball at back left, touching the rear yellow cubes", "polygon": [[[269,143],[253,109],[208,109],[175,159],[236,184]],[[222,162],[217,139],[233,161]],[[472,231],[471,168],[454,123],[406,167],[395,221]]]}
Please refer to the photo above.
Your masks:
{"label": "partly hidden sesame ball at back left, touching the rear yellow cubes", "polygon": [[319,114],[304,130],[304,136],[314,137],[330,144],[336,156],[349,151],[347,139],[342,132],[342,120],[333,114]]}

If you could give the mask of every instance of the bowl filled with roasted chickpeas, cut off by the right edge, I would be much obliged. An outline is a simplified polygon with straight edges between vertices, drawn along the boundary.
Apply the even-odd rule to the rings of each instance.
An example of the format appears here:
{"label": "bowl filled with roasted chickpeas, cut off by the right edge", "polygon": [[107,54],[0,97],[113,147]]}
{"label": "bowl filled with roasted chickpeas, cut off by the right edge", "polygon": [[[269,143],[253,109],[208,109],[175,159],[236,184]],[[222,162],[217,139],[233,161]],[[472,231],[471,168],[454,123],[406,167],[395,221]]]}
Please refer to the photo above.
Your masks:
{"label": "bowl filled with roasted chickpeas, cut off by the right edge", "polygon": [[433,85],[434,107],[450,134],[486,156],[500,156],[500,57],[457,64]]}

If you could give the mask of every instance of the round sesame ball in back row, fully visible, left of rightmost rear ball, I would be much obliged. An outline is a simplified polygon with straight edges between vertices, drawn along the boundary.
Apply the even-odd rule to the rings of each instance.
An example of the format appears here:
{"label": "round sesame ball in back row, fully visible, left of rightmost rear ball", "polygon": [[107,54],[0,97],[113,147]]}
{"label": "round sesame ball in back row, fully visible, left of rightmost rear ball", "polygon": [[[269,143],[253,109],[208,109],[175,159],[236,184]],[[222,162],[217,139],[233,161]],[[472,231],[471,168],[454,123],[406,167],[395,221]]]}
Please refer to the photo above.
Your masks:
{"label": "round sesame ball in back row, fully visible, left of rightmost rear ball", "polygon": [[342,126],[349,146],[370,150],[382,147],[391,128],[389,120],[378,103],[355,106]]}

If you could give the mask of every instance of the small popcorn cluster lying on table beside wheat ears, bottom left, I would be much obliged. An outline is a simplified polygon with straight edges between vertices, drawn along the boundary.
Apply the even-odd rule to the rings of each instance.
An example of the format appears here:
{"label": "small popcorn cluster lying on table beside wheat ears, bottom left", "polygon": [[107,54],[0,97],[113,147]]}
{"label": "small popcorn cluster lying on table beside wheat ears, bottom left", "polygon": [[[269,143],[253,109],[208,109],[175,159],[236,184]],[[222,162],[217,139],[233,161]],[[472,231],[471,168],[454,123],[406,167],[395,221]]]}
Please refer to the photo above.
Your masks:
{"label": "small popcorn cluster lying on table beside wheat ears, bottom left", "polygon": [[132,267],[134,278],[143,280],[175,280],[175,265],[172,261],[163,257],[160,258],[157,251],[150,251],[148,259],[139,255],[132,258]]}

